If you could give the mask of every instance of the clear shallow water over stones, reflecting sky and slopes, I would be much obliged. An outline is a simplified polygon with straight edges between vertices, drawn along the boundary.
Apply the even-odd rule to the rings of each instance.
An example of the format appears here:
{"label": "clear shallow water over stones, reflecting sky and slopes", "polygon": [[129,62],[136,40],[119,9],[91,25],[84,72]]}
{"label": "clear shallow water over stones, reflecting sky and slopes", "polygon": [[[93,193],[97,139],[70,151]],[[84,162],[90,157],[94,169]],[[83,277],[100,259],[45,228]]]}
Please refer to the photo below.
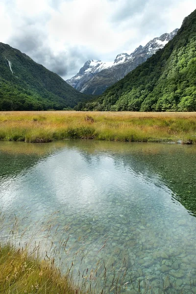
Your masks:
{"label": "clear shallow water over stones, reflecting sky and slopes", "polygon": [[57,247],[69,235],[75,271],[104,261],[108,287],[114,269],[121,279],[127,268],[127,294],[196,293],[195,171],[196,146],[0,142],[2,234],[15,215],[19,234],[29,228],[23,242],[44,238],[48,227]]}

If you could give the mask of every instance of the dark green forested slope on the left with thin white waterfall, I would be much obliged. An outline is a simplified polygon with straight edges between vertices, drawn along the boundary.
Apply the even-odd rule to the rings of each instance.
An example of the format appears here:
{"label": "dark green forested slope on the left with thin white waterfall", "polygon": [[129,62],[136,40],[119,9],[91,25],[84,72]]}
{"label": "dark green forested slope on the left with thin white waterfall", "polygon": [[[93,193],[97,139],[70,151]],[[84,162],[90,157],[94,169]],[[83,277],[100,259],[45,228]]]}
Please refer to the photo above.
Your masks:
{"label": "dark green forested slope on the left with thin white waterfall", "polygon": [[0,110],[69,109],[88,98],[56,73],[0,43]]}

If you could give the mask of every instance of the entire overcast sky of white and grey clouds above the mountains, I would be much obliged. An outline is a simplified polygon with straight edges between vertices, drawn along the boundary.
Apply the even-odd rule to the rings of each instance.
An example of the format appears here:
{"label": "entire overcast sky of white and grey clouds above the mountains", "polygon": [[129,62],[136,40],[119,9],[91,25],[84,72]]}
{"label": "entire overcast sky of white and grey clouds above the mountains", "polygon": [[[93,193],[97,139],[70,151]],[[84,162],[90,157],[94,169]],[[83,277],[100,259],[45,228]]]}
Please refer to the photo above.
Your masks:
{"label": "entire overcast sky of white and grey clouds above the mountains", "polygon": [[64,79],[180,27],[196,0],[0,0],[0,42]]}

